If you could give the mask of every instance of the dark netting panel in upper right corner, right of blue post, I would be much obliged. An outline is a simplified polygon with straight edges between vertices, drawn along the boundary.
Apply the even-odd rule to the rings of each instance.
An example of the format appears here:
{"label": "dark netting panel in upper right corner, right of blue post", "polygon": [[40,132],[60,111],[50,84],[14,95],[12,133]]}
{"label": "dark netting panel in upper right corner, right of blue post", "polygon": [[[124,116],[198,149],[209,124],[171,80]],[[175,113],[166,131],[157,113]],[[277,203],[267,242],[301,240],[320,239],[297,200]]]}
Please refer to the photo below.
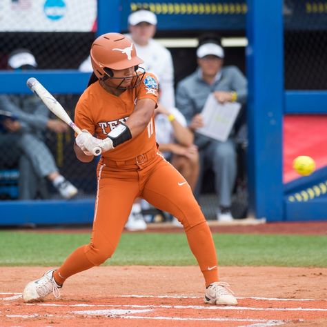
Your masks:
{"label": "dark netting panel in upper right corner, right of blue post", "polygon": [[327,89],[327,3],[284,1],[286,90]]}

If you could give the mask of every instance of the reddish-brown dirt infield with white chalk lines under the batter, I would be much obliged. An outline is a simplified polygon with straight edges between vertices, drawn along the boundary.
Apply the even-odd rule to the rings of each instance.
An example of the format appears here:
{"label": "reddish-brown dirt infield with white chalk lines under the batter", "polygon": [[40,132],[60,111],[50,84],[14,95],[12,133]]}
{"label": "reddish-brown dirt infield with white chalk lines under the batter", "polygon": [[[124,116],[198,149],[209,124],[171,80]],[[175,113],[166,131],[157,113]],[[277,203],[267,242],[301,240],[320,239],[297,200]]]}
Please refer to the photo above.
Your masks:
{"label": "reddish-brown dirt infield with white chalk lines under the batter", "polygon": [[[327,222],[210,224],[213,232],[326,235]],[[151,226],[148,232],[182,232]],[[38,229],[33,232],[49,232]],[[52,232],[89,232],[90,228]],[[66,281],[61,298],[24,304],[21,292],[45,267],[1,267],[0,327],[7,326],[327,326],[327,268],[221,267],[236,307],[203,302],[197,266],[103,266]]]}

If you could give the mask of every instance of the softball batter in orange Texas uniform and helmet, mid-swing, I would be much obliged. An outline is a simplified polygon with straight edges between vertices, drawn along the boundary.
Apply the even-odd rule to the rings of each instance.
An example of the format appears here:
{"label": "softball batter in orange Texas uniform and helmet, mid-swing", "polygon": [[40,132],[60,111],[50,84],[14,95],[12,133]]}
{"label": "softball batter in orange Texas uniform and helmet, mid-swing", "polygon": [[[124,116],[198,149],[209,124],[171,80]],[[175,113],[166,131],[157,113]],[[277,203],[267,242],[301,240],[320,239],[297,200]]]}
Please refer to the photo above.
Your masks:
{"label": "softball batter in orange Texas uniform and helmet, mid-swing", "polygon": [[132,41],[122,34],[98,37],[90,56],[93,74],[75,110],[75,123],[83,133],[74,145],[77,158],[83,162],[93,159],[95,146],[103,152],[97,167],[90,244],[77,248],[58,269],[31,281],[23,291],[24,301],[40,301],[50,293],[59,297],[59,288],[68,277],[110,258],[133,201],[141,197],[183,224],[204,275],[204,301],[236,305],[228,284],[219,282],[215,244],[190,186],[158,151],[154,123],[157,79],[139,68],[143,61]]}

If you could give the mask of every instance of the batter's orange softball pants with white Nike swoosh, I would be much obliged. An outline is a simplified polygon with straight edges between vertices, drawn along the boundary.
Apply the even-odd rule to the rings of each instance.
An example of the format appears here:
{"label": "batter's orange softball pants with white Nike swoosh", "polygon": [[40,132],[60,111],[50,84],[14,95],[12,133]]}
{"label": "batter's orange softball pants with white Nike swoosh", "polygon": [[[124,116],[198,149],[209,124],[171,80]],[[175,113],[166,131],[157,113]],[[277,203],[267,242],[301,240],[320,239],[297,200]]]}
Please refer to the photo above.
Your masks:
{"label": "batter's orange softball pants with white Nike swoosh", "polygon": [[112,256],[137,197],[181,221],[206,286],[218,281],[215,244],[206,219],[184,177],[160,154],[156,152],[154,158],[143,164],[130,166],[101,159],[97,177],[90,244],[77,248],[56,270],[54,279],[59,284],[71,275],[99,266]]}

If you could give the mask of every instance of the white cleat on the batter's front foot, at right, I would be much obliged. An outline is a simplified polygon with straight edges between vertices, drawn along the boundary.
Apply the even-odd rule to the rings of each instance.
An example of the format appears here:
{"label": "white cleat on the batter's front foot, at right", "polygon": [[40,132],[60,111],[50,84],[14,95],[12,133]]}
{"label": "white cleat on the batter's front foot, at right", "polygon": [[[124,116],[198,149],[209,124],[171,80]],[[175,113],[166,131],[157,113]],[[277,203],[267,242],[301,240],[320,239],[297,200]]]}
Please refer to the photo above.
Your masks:
{"label": "white cleat on the batter's front foot, at right", "polygon": [[206,288],[204,295],[206,304],[217,304],[223,306],[236,306],[237,299],[229,288],[229,284],[216,281]]}

